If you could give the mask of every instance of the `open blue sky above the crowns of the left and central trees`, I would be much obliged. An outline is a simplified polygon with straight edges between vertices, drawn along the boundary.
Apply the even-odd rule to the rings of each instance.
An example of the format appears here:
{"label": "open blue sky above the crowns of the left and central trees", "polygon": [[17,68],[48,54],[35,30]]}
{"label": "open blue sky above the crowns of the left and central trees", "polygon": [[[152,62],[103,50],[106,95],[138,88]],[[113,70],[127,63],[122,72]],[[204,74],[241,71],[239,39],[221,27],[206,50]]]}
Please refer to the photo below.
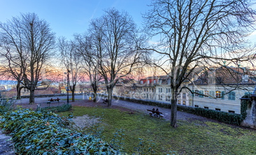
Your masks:
{"label": "open blue sky above the crowns of the left and central trees", "polygon": [[36,13],[44,19],[56,36],[73,39],[88,29],[93,18],[101,17],[104,10],[116,8],[127,11],[138,27],[142,13],[150,9],[150,0],[0,0],[0,22],[20,16],[20,13]]}

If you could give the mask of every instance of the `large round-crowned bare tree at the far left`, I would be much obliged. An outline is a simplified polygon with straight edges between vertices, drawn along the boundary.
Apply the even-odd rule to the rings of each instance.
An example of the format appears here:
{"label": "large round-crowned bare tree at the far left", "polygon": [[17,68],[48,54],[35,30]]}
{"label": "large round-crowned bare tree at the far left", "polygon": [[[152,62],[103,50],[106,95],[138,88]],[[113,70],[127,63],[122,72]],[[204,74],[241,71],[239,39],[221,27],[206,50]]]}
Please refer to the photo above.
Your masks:
{"label": "large round-crowned bare tree at the far left", "polygon": [[[55,35],[45,20],[35,13],[21,14],[6,24],[0,23],[1,40],[9,71],[30,90],[29,103],[34,104],[34,90],[42,77],[42,69],[50,58]],[[5,52],[4,52],[5,51]],[[18,88],[17,88],[18,90]]]}

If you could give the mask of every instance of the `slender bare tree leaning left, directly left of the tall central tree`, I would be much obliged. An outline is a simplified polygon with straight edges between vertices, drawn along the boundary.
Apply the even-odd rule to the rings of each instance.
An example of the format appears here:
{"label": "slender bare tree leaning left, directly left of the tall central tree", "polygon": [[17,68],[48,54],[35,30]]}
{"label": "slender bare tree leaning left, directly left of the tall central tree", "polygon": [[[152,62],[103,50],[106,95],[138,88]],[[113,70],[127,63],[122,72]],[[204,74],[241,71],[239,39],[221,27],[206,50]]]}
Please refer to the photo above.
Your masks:
{"label": "slender bare tree leaning left, directly left of the tall central tree", "polygon": [[92,37],[89,34],[75,35],[74,43],[77,55],[83,60],[83,69],[85,69],[85,75],[90,79],[90,86],[94,90],[94,102],[96,102],[99,81],[102,79],[99,74],[97,50],[94,48]]}

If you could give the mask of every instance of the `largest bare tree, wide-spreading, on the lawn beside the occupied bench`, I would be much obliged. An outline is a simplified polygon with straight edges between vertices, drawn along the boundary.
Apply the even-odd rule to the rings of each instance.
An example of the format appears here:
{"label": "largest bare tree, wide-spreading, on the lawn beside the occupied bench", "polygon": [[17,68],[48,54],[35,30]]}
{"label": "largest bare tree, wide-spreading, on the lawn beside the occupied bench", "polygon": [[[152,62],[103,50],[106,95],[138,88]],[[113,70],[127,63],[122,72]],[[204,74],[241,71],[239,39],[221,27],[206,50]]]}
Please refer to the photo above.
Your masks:
{"label": "largest bare tree, wide-spreading, on the lawn beside the occupied bench", "polygon": [[[171,126],[176,128],[178,93],[199,66],[222,61],[248,61],[255,46],[245,39],[255,30],[255,10],[250,0],[153,0],[145,14],[146,30],[159,37],[154,50],[159,64],[171,77]],[[188,88],[187,88],[188,89]]]}

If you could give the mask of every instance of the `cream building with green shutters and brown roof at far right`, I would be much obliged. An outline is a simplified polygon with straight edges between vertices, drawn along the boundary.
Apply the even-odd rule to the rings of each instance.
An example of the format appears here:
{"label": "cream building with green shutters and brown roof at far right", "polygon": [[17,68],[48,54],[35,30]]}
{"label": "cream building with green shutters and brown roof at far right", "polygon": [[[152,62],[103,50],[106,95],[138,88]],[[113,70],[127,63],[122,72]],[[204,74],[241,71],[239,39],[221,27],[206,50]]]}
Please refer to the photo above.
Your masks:
{"label": "cream building with green shutters and brown roof at far right", "polygon": [[239,98],[253,92],[255,77],[253,72],[245,68],[208,69],[196,81],[190,83],[190,88],[199,93],[190,93],[190,105],[240,114]]}

